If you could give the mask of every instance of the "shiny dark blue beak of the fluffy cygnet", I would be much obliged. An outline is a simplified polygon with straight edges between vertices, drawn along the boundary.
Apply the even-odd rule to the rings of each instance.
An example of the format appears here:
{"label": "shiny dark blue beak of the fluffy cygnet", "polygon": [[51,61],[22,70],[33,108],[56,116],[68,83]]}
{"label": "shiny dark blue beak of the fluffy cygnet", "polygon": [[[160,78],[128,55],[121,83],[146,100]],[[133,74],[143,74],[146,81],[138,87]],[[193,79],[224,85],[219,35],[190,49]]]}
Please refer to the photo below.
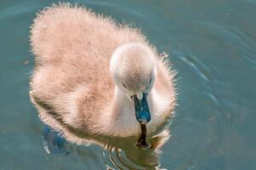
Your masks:
{"label": "shiny dark blue beak of the fluffy cygnet", "polygon": [[142,99],[138,99],[137,95],[132,97],[134,100],[135,116],[139,123],[145,124],[151,121],[151,111],[146,99],[146,94],[143,94]]}

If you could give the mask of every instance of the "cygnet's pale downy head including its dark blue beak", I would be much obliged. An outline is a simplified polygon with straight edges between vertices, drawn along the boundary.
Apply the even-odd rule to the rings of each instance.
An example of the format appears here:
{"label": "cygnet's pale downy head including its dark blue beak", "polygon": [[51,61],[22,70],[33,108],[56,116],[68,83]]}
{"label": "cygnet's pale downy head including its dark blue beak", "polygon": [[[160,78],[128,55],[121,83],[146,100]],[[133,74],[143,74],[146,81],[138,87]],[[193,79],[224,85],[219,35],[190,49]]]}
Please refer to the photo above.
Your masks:
{"label": "cygnet's pale downy head including its dark blue beak", "polygon": [[118,47],[111,57],[111,76],[117,88],[134,102],[137,121],[150,122],[147,95],[156,79],[156,57],[142,42],[128,42]]}

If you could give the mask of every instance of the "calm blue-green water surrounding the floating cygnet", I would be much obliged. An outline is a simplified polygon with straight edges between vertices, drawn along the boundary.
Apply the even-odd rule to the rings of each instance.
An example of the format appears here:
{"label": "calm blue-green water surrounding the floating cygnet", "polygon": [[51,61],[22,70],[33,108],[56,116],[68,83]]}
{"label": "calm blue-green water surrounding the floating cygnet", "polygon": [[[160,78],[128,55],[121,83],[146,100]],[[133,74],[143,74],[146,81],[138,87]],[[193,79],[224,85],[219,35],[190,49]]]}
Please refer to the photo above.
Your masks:
{"label": "calm blue-green water surrounding the floating cygnet", "polygon": [[256,1],[73,2],[132,23],[170,54],[179,71],[171,138],[157,153],[117,139],[114,148],[68,144],[69,155],[48,155],[28,97],[28,35],[37,10],[52,2],[2,0],[0,169],[256,169]]}

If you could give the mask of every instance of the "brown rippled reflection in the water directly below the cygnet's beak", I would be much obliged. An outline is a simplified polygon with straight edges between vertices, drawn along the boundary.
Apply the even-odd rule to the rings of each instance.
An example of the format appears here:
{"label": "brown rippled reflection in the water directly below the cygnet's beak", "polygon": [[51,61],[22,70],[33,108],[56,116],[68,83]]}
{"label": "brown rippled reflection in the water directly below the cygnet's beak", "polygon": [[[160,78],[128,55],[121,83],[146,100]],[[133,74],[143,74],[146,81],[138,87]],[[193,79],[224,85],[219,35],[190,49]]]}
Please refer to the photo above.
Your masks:
{"label": "brown rippled reflection in the water directly below the cygnet's beak", "polygon": [[[148,150],[138,150],[136,138],[134,139],[115,139],[105,145],[108,150],[109,159],[114,166],[120,169],[154,169],[159,167],[158,154],[162,144],[169,139],[168,130],[157,134],[149,139],[151,148]],[[105,140],[101,140],[104,141]],[[108,159],[106,153],[105,159]]]}

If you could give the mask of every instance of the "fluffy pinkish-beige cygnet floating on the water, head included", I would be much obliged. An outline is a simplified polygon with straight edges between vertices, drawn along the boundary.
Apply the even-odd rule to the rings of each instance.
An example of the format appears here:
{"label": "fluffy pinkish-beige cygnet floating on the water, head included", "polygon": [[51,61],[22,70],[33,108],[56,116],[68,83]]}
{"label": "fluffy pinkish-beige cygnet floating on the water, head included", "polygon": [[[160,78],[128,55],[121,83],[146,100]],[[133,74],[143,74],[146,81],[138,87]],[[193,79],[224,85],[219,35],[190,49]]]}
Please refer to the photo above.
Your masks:
{"label": "fluffy pinkish-beige cygnet floating on the water, head included", "polygon": [[[59,4],[37,14],[31,50],[31,101],[53,128],[127,137],[138,121],[155,132],[174,111],[174,72],[137,29]],[[136,115],[134,97],[150,118]]]}

